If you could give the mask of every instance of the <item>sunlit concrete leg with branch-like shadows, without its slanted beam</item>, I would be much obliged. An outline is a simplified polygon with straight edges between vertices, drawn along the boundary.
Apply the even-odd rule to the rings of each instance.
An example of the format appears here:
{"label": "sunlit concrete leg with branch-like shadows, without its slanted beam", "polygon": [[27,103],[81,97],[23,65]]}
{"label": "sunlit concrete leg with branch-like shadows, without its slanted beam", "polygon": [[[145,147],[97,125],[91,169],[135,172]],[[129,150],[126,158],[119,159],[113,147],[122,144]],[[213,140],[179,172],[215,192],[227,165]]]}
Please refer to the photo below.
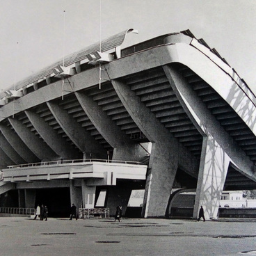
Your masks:
{"label": "sunlit concrete leg with branch-like shadows, without its slanted beam", "polygon": [[230,157],[216,140],[210,135],[204,137],[193,218],[198,217],[201,205],[205,210],[206,219],[217,218],[229,164]]}

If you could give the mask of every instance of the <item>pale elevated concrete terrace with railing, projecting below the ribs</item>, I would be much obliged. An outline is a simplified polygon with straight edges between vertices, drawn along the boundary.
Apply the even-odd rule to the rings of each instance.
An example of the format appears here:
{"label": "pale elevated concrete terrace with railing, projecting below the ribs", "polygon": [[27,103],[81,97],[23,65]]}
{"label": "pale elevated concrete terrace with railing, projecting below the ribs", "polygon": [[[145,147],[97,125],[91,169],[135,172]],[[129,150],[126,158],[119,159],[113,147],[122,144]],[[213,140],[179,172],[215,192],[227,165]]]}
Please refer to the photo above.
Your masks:
{"label": "pale elevated concrete terrace with railing, projecting below the ribs", "polygon": [[86,179],[101,186],[116,185],[117,179],[145,180],[147,166],[131,161],[76,159],[8,166],[4,182],[35,182],[53,179]]}

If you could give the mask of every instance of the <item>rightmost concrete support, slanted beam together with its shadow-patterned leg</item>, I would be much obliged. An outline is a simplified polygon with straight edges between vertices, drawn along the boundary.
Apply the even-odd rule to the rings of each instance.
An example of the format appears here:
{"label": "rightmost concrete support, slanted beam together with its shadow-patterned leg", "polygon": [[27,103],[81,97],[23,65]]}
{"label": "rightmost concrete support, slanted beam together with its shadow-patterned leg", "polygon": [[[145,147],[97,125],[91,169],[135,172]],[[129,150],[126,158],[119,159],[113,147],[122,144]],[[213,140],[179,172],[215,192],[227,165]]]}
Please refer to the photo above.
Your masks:
{"label": "rightmost concrete support, slanted beam together with its shadow-patterned leg", "polygon": [[234,163],[243,175],[256,180],[253,161],[250,161],[223,129],[184,77],[171,65],[163,67],[163,70],[193,124],[205,134],[193,218],[198,216],[200,205],[205,208],[206,218],[217,218],[219,200],[230,162]]}

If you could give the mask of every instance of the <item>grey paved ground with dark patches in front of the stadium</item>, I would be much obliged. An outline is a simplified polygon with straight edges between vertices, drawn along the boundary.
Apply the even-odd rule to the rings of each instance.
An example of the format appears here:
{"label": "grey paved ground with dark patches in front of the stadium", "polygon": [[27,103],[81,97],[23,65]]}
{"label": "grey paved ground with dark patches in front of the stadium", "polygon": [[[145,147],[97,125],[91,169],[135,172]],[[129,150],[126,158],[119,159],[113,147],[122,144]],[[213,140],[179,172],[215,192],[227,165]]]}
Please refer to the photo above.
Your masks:
{"label": "grey paved ground with dark patches in front of the stadium", "polygon": [[256,255],[255,219],[0,218],[1,256]]}

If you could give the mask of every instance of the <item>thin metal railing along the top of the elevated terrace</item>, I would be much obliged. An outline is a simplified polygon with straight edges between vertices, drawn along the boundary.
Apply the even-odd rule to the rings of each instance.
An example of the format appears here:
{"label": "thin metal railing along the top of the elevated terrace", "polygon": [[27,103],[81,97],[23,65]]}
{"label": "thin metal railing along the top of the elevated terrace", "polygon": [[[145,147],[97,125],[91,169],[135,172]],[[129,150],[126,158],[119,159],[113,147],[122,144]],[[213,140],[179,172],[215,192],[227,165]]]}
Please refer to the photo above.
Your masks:
{"label": "thin metal railing along the top of the elevated terrace", "polygon": [[68,163],[90,163],[90,162],[100,162],[100,163],[125,163],[125,164],[136,164],[143,165],[143,163],[138,161],[119,161],[119,160],[109,160],[109,159],[70,159],[70,160],[56,160],[56,161],[42,161],[38,163],[24,163],[17,164],[13,166],[8,166],[9,169],[22,168],[22,167],[35,167],[35,166],[50,166],[58,164],[68,164]]}

